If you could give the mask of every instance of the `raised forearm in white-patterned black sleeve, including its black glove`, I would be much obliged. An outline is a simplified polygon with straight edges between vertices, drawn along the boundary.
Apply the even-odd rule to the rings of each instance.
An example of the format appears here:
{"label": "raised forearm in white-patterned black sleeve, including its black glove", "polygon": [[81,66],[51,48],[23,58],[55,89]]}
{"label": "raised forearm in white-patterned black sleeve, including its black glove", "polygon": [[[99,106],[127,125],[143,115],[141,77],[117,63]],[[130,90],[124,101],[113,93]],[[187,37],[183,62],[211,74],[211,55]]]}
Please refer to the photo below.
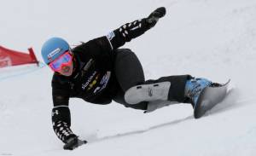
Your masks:
{"label": "raised forearm in white-patterned black sleeve, including its black glove", "polygon": [[157,21],[166,14],[164,7],[155,9],[147,18],[142,20],[135,20],[131,23],[126,23],[120,26],[113,32],[108,33],[108,41],[112,49],[118,49],[124,45],[125,42],[130,42],[132,38],[141,36],[144,32],[148,31],[151,27],[155,26]]}

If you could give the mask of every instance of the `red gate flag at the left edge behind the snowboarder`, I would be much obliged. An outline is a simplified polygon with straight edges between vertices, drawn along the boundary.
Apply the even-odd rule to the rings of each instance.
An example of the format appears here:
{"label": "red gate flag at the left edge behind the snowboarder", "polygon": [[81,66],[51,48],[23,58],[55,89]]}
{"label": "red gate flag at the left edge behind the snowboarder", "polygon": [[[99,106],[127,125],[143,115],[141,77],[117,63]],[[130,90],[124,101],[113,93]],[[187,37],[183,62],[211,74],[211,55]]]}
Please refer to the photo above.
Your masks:
{"label": "red gate flag at the left edge behind the snowboarder", "polygon": [[4,48],[0,45],[0,68],[6,66],[18,66],[23,64],[36,63],[38,60],[32,48],[28,49],[29,54]]}

